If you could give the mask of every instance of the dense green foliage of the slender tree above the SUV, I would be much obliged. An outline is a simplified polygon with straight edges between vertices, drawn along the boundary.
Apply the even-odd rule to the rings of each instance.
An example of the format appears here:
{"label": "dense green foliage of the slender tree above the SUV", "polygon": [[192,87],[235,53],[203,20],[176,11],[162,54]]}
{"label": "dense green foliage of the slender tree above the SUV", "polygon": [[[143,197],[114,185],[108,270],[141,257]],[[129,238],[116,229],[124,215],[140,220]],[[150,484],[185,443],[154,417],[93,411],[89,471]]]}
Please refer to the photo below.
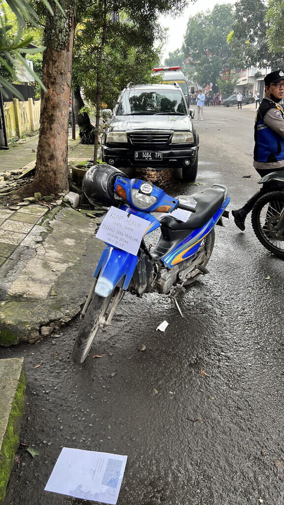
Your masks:
{"label": "dense green foliage of the slender tree above the SUV", "polygon": [[[151,81],[151,69],[159,60],[154,40],[161,39],[163,33],[155,16],[150,19],[149,13],[142,15],[145,4],[140,2],[139,12],[137,2],[129,3],[127,9],[120,11],[119,22],[113,22],[109,14],[103,21],[103,3],[85,10],[75,38],[73,83],[84,88],[91,105],[96,105],[98,81],[100,103],[108,108],[115,105],[119,93],[130,81],[134,84]],[[111,12],[111,3],[106,2],[106,9]]]}

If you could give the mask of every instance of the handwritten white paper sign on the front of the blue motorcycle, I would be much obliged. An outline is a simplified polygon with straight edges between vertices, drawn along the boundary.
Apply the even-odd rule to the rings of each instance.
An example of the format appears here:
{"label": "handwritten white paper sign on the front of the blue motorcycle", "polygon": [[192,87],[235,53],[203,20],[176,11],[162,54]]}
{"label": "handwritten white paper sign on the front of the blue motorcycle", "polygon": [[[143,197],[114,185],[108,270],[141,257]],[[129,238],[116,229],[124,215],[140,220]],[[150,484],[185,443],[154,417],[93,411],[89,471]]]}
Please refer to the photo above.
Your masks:
{"label": "handwritten white paper sign on the front of the blue motorcycle", "polygon": [[150,225],[146,219],[110,207],[96,234],[104,242],[137,255],[142,237]]}

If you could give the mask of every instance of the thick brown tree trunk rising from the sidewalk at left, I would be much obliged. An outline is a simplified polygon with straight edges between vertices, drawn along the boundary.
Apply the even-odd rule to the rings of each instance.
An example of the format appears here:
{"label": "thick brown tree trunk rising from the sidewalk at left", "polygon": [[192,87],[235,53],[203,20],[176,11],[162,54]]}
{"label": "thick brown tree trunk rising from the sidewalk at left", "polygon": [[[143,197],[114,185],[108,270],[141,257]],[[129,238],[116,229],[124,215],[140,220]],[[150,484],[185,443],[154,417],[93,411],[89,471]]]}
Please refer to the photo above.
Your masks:
{"label": "thick brown tree trunk rising from the sidewalk at left", "polygon": [[72,77],[72,51],[76,0],[61,0],[62,15],[53,4],[46,16],[41,93],[40,129],[32,189],[42,195],[68,190],[68,116]]}

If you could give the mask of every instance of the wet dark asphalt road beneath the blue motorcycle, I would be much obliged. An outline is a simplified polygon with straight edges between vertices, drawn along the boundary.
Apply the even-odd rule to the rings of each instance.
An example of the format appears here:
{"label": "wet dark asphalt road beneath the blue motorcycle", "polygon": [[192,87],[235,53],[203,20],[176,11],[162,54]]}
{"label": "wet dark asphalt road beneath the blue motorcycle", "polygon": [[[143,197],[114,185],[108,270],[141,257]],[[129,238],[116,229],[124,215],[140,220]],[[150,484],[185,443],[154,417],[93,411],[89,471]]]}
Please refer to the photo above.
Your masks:
{"label": "wet dark asphalt road beneath the blue motorcycle", "polygon": [[[139,176],[173,195],[220,182],[231,210],[257,189],[254,106],[204,115],[201,185],[172,170]],[[39,452],[19,450],[5,505],[84,502],[43,490],[62,446],[128,456],[119,505],[284,503],[283,262],[249,220],[245,233],[232,218],[225,225],[210,273],[180,295],[184,319],[166,296],[126,295],[83,366],[70,361],[78,320],[58,338],[2,352],[26,359],[22,441]]]}

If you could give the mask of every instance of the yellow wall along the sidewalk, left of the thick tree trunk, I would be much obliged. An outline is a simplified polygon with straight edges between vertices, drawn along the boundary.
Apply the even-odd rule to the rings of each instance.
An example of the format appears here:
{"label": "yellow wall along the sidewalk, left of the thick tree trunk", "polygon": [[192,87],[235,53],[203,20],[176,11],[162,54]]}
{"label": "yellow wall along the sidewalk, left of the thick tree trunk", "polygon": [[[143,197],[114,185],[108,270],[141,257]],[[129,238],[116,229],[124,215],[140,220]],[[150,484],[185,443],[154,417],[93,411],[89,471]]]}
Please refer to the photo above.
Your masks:
{"label": "yellow wall along the sidewalk, left of the thick tree trunk", "polygon": [[37,131],[40,100],[33,103],[33,99],[29,98],[28,102],[19,102],[18,98],[14,98],[13,102],[4,102],[4,116],[8,140],[15,137],[21,138],[31,131]]}

